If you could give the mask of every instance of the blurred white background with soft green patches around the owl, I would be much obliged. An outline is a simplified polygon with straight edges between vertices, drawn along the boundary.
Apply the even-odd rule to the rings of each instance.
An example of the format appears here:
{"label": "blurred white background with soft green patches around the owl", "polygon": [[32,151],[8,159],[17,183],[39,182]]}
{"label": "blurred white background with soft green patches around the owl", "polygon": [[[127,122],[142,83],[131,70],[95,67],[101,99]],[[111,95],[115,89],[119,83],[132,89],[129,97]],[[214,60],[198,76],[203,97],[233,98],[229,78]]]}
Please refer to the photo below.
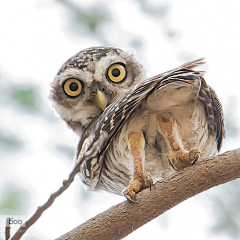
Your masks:
{"label": "blurred white background with soft green patches around the owl", "polygon": [[[207,83],[224,107],[222,152],[240,147],[239,10],[237,0],[0,1],[0,215],[30,217],[69,175],[78,137],[55,117],[48,96],[61,65],[87,47],[131,51],[149,77],[205,57]],[[23,239],[57,238],[124,200],[90,192],[76,177]],[[125,239],[240,239],[239,180]]]}

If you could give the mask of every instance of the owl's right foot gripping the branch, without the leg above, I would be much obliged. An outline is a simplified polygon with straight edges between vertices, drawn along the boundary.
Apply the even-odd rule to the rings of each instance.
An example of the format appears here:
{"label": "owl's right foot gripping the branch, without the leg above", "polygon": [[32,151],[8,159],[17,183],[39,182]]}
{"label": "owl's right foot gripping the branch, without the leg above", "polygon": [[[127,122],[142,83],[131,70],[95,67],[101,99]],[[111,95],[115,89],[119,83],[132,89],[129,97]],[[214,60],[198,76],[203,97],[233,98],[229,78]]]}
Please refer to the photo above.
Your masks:
{"label": "owl's right foot gripping the branch, without the leg above", "polygon": [[182,149],[177,151],[171,151],[168,153],[168,161],[172,168],[176,171],[185,167],[193,165],[200,157],[200,148],[194,148],[189,152],[185,152]]}

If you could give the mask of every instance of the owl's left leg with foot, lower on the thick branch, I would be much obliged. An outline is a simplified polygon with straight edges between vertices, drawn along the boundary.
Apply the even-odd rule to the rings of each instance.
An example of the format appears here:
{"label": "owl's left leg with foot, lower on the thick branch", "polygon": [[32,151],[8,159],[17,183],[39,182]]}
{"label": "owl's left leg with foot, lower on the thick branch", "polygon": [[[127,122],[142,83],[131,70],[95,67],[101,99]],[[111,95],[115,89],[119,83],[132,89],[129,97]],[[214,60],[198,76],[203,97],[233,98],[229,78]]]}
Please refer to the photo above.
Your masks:
{"label": "owl's left leg with foot, lower on the thick branch", "polygon": [[143,134],[139,132],[130,133],[129,139],[134,160],[134,174],[133,181],[123,191],[123,194],[130,201],[134,201],[136,193],[142,188],[151,187],[153,181],[149,173],[143,172],[142,162],[145,154]]}

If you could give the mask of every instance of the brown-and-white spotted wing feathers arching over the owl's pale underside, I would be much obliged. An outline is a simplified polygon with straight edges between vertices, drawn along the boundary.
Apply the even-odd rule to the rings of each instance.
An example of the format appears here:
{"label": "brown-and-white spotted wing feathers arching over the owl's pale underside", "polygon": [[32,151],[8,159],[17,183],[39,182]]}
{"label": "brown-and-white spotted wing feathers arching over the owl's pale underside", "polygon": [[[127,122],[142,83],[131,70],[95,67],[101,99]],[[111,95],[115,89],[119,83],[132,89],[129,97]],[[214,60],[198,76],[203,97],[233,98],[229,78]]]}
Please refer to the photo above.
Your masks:
{"label": "brown-and-white spotted wing feathers arching over the owl's pale underside", "polygon": [[[84,131],[76,151],[77,161],[81,161],[84,152],[89,151],[102,134],[105,135],[99,144],[99,150],[95,155],[83,161],[81,177],[83,181],[94,188],[98,182],[104,154],[111,140],[121,129],[124,122],[143,101],[145,103],[152,93],[192,86],[196,81],[200,82],[198,98],[203,103],[208,119],[209,129],[215,134],[218,150],[221,148],[222,139],[225,136],[224,118],[222,106],[213,91],[205,82],[203,72],[194,71],[193,68],[204,64],[203,59],[183,64],[171,71],[146,79],[135,85],[129,92],[123,94],[118,100],[110,104]],[[200,81],[199,81],[200,79]]]}

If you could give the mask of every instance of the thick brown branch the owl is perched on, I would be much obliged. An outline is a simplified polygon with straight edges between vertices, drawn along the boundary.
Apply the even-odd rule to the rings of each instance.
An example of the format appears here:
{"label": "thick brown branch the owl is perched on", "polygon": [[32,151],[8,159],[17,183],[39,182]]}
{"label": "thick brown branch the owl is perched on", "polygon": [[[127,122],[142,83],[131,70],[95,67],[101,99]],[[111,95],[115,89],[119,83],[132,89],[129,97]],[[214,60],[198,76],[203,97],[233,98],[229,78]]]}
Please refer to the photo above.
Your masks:
{"label": "thick brown branch the owl is perched on", "polygon": [[239,177],[240,148],[176,172],[140,192],[136,203],[120,203],[57,240],[121,239],[184,200]]}

